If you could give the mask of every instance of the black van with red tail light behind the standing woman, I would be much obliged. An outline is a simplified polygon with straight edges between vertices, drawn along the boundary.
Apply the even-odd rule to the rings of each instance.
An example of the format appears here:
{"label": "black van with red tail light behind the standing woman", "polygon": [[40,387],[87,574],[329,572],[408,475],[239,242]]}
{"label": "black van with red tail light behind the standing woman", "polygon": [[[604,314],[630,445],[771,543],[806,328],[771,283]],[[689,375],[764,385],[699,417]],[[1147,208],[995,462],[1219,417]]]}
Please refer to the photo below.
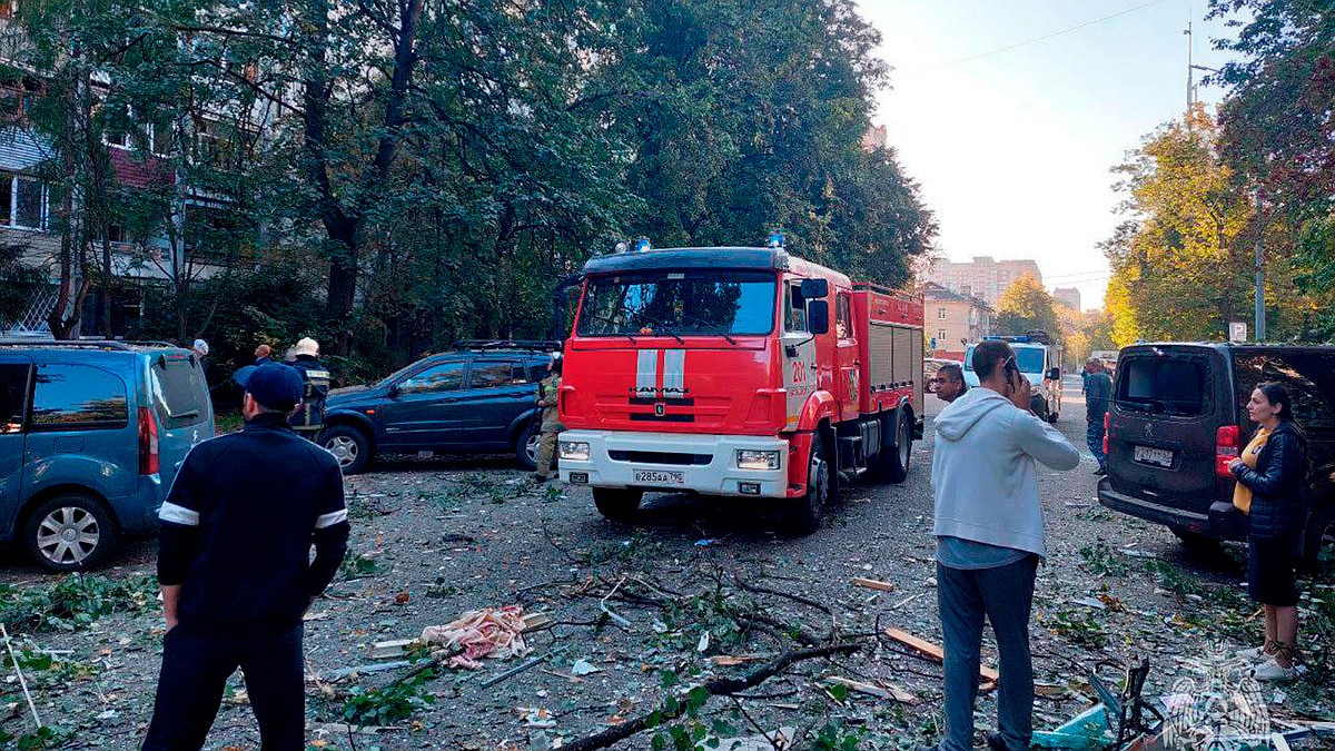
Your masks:
{"label": "black van with red tail light behind the standing woman", "polygon": [[1312,513],[1303,557],[1335,547],[1335,346],[1147,343],[1121,350],[1099,501],[1183,541],[1244,540],[1228,462],[1251,437],[1256,384],[1283,384],[1308,438]]}

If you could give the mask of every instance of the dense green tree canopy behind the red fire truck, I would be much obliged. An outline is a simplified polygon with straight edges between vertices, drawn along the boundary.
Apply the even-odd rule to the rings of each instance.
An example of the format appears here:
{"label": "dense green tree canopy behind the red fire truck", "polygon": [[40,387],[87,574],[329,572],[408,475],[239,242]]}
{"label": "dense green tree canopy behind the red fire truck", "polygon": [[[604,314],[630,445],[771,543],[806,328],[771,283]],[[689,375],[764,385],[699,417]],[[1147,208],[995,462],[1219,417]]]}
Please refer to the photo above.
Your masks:
{"label": "dense green tree canopy behind the red fire truck", "polygon": [[[862,146],[888,69],[852,0],[135,0],[64,37],[43,5],[20,5],[47,40],[29,68],[84,39],[116,100],[175,134],[156,229],[190,230],[199,184],[247,219],[240,253],[176,285],[174,335],[207,334],[210,301],[266,265],[322,301],[308,333],[388,363],[546,334],[561,278],[618,239],[782,226],[794,254],[900,285],[936,231],[893,150]],[[232,146],[200,174],[212,131]]]}

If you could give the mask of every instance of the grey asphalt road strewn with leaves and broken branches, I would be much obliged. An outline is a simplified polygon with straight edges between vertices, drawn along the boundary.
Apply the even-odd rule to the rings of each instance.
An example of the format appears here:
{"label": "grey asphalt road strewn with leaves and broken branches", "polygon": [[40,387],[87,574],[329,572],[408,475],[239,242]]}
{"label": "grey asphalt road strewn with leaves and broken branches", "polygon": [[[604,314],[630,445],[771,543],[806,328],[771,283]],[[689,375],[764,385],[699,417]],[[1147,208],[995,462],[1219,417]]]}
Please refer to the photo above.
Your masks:
{"label": "grey asphalt road strewn with leaves and broken branches", "polygon": [[[929,396],[926,406],[930,436],[930,416],[941,402]],[[1251,603],[1240,595],[1236,551],[1188,556],[1164,528],[1097,505],[1079,380],[1068,380],[1057,428],[1084,458],[1072,472],[1039,473],[1049,548],[1031,628],[1036,678],[1044,687],[1036,703],[1040,728],[1089,706],[1084,676],[1100,660],[1148,655],[1153,672],[1147,695],[1160,696],[1179,678],[1200,673],[1212,644],[1246,647],[1260,633],[1259,623],[1248,620]],[[805,537],[772,532],[754,501],[673,494],[649,496],[634,524],[611,524],[594,510],[587,489],[534,486],[505,457],[380,462],[375,472],[347,481],[350,560],[311,611],[308,669],[328,676],[375,661],[374,643],[417,636],[469,609],[519,604],[546,612],[557,625],[527,636],[534,653],[546,659],[541,668],[493,687],[481,679],[514,661],[489,661],[479,672],[445,671],[414,690],[430,702],[405,700],[406,716],[375,723],[390,728],[356,743],[382,751],[546,750],[557,736],[569,743],[654,708],[665,696],[663,675],[684,682],[737,675],[752,663],[720,667],[710,657],[762,660],[790,649],[789,628],[822,639],[861,635],[866,645],[857,655],[802,663],[753,691],[758,698],[741,704],[742,726],[812,732],[828,727],[838,738],[864,734],[860,747],[912,748],[933,739],[940,723],[940,668],[870,637],[897,627],[940,641],[930,461],[930,440],[916,442],[904,484],[849,488],[822,527]],[[152,545],[142,541],[103,573],[129,579],[151,572]],[[853,577],[886,581],[894,591],[853,587]],[[49,577],[21,565],[9,567],[7,579],[21,589],[51,585]],[[1335,600],[1335,592],[1326,599]],[[738,613],[760,613],[782,628],[738,628],[738,617],[745,617]],[[72,718],[83,739],[76,747],[92,739],[105,748],[136,747],[151,712],[160,627],[156,608],[147,603],[72,633],[32,635],[41,648],[69,649],[68,659],[92,665],[96,676],[32,679],[39,710]],[[991,648],[985,656],[995,659]],[[571,675],[579,660],[598,672]],[[904,702],[832,698],[824,684],[832,673],[894,686]],[[312,680],[312,740],[320,748],[350,748],[346,731],[332,723],[355,696],[352,687],[364,692],[396,675]],[[258,747],[244,687],[239,676],[232,682],[208,748]],[[1320,716],[1335,707],[1324,678],[1286,691],[1296,710],[1276,704],[1276,714]],[[550,712],[554,727],[534,727],[534,708]],[[704,716],[736,720],[740,714],[717,700]],[[993,698],[985,695],[980,723],[989,727],[992,716]],[[649,748],[650,735],[618,747]],[[812,736],[806,740],[800,747],[814,746]]]}

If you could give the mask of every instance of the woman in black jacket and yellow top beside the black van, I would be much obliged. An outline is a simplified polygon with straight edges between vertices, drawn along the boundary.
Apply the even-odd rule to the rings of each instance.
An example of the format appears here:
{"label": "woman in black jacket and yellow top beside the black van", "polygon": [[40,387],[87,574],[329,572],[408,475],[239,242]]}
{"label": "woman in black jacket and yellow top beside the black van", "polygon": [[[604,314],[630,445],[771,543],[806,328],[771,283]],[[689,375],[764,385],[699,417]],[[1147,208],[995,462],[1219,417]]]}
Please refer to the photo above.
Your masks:
{"label": "woman in black jacket and yellow top beside the black van", "polygon": [[[1250,490],[1251,531],[1247,535],[1247,589],[1266,607],[1266,644],[1244,656],[1264,660],[1252,675],[1260,680],[1294,678],[1298,636],[1298,588],[1294,549],[1303,528],[1307,484],[1307,440],[1294,425],[1292,402],[1279,384],[1262,384],[1247,402],[1259,425],[1244,456],[1230,462],[1238,478],[1235,496]],[[1250,454],[1250,456],[1248,456]],[[1248,466],[1252,465],[1252,466]]]}

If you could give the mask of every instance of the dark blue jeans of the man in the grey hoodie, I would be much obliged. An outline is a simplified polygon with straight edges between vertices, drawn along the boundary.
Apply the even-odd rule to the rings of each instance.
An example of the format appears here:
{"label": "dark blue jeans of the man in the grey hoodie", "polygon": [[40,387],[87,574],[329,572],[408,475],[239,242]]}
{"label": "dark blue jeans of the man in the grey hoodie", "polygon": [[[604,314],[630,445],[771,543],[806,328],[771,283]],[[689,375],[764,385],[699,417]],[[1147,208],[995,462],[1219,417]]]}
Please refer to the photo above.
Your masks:
{"label": "dark blue jeans of the man in the grey hoodie", "polygon": [[937,607],[945,636],[945,736],[941,751],[973,748],[973,703],[979,695],[983,616],[1001,653],[997,728],[1007,748],[1028,748],[1033,738],[1033,663],[1029,613],[1039,556],[996,568],[936,565]]}

